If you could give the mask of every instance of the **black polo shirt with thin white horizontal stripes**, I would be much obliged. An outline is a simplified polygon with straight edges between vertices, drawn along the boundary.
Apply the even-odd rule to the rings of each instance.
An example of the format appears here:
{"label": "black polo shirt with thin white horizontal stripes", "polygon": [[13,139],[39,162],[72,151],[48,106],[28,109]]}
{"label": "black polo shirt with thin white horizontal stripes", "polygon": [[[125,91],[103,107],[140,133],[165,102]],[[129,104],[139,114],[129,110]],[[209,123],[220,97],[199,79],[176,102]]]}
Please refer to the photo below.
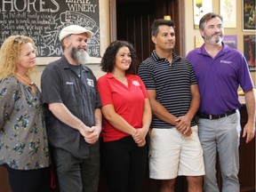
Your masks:
{"label": "black polo shirt with thin white horizontal stripes", "polygon": [[[172,53],[172,63],[159,58],[154,50],[148,59],[140,64],[138,75],[147,90],[156,91],[156,100],[173,116],[184,116],[190,108],[191,85],[197,84],[194,69],[186,58]],[[194,120],[191,126],[196,125]],[[151,127],[158,129],[172,128],[163,120],[152,117]]]}

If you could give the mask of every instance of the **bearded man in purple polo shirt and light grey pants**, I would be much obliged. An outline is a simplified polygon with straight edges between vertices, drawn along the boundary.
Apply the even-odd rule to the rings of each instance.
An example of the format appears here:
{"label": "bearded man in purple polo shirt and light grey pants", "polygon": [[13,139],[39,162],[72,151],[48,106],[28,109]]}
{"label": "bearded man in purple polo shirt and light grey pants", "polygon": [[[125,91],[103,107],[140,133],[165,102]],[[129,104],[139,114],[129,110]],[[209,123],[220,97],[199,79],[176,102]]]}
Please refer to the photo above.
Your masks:
{"label": "bearded man in purple polo shirt and light grey pants", "polygon": [[[216,154],[220,156],[222,191],[239,192],[239,138],[241,132],[237,89],[244,91],[248,122],[243,137],[248,143],[255,134],[255,98],[252,77],[244,55],[223,44],[222,17],[207,13],[200,20],[204,44],[188,52],[201,95],[198,110],[199,139],[204,149],[204,191],[219,192]],[[250,104],[249,104],[250,103]],[[248,105],[249,104],[249,105]]]}

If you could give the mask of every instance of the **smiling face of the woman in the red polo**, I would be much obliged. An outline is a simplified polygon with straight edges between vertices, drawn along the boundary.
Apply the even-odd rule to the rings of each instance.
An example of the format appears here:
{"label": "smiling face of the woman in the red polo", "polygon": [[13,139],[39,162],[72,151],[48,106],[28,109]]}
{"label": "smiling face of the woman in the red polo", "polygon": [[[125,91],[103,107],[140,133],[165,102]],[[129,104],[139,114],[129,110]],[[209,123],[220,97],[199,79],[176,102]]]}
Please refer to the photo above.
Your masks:
{"label": "smiling face of the woman in the red polo", "polygon": [[131,52],[128,47],[121,47],[116,53],[116,65],[114,70],[126,71],[132,63]]}

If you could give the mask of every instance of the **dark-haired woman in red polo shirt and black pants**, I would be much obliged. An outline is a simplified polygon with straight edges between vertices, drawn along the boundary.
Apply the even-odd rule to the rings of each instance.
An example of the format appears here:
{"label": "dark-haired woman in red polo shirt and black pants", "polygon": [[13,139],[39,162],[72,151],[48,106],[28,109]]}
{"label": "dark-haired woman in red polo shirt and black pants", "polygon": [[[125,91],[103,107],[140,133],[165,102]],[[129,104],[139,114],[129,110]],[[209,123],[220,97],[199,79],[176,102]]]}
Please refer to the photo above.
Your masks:
{"label": "dark-haired woman in red polo shirt and black pants", "polygon": [[132,44],[109,44],[98,80],[104,116],[102,160],[111,192],[140,191],[147,164],[151,108],[145,85],[132,75],[138,60]]}

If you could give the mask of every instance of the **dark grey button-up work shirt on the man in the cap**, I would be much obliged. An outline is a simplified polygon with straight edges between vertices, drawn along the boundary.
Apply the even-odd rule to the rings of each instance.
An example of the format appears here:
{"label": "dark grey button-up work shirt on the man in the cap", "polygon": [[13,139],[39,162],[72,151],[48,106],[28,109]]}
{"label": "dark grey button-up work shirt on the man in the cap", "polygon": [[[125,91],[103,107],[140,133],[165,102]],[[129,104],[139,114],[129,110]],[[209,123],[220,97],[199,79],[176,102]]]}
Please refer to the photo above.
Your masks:
{"label": "dark grey button-up work shirt on the man in the cap", "polygon": [[[80,71],[80,72],[79,72]],[[50,145],[63,148],[76,157],[88,156],[88,144],[76,129],[63,124],[50,110],[49,103],[63,103],[84,124],[95,124],[94,111],[100,108],[97,80],[86,66],[74,67],[62,56],[44,68],[41,77],[46,129]]]}

